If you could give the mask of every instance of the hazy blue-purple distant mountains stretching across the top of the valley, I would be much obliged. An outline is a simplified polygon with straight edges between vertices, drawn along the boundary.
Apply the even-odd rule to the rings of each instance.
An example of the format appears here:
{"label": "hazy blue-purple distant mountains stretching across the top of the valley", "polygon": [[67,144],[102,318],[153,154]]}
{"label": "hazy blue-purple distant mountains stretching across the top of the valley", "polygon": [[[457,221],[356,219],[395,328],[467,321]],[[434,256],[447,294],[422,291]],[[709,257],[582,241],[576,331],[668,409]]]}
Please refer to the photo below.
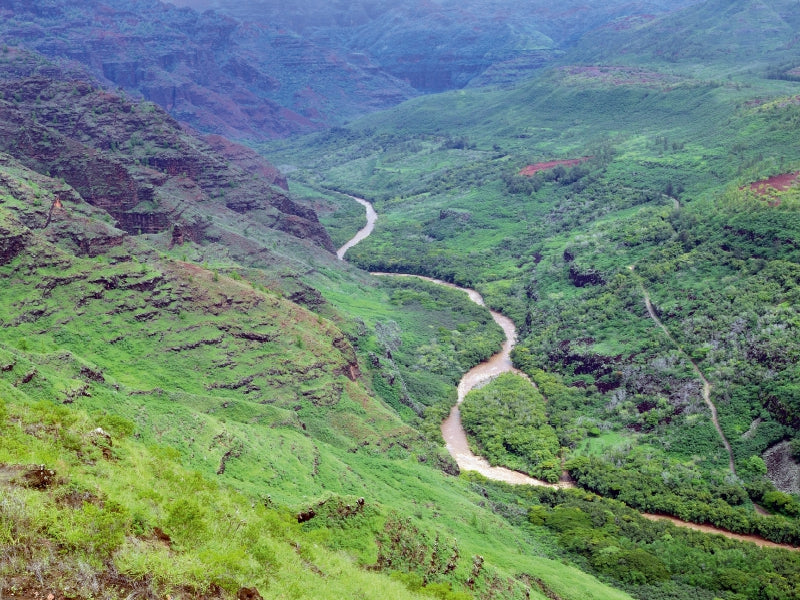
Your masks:
{"label": "hazy blue-purple distant mountains stretching across the top of the valley", "polygon": [[691,3],[0,0],[0,35],[82,65],[200,132],[259,141],[420,93],[511,84],[604,24]]}

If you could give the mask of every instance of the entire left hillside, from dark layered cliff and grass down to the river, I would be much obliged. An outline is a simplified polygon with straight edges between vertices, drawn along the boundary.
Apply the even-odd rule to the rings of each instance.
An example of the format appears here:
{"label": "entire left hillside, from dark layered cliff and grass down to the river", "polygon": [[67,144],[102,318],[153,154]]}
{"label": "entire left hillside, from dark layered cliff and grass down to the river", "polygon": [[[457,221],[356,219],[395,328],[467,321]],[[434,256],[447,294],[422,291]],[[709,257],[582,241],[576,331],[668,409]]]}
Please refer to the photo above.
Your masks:
{"label": "entire left hillside, from dark layered cliff and grass down to the river", "polygon": [[[0,154],[4,596],[628,597],[452,475],[437,415],[499,342],[486,311],[256,227],[263,209],[212,192],[307,209],[157,109],[14,71],[24,93],[4,84]],[[145,143],[125,143],[129,128]],[[167,141],[202,168],[141,164],[170,156]],[[120,210],[144,177],[159,201]],[[203,237],[181,220],[190,207]],[[131,214],[179,227],[140,233]]]}

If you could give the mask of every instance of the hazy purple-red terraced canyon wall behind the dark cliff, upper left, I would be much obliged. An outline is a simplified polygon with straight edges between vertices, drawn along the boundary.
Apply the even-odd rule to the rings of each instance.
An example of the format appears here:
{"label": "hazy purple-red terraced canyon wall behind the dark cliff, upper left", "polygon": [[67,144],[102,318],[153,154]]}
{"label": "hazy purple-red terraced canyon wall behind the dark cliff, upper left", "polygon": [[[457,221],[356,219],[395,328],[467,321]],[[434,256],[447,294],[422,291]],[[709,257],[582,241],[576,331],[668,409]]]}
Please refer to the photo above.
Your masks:
{"label": "hazy purple-red terraced canyon wall behind the dark cliff, upper left", "polygon": [[0,1],[4,42],[88,69],[201,132],[287,136],[413,95],[369,61],[273,27],[155,0]]}

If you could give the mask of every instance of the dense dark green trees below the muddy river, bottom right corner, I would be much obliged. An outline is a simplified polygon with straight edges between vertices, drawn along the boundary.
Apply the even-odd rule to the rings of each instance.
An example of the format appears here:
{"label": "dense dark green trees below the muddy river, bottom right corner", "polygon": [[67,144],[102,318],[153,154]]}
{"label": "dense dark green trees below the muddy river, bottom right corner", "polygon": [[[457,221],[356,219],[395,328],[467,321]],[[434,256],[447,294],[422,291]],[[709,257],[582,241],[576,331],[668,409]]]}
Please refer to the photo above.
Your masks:
{"label": "dense dark green trees below the muddy river, bottom right corner", "polygon": [[556,538],[565,556],[648,600],[796,598],[800,556],[653,521],[579,490],[511,487],[476,477],[476,489],[522,528]]}

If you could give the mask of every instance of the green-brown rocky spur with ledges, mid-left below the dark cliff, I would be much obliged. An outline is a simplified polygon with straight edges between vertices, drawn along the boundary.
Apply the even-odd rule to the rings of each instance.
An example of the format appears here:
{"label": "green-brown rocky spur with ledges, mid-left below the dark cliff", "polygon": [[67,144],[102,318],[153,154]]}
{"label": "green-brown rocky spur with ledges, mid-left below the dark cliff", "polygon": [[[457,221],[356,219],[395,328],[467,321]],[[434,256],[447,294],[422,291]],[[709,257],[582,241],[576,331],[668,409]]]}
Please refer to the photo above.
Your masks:
{"label": "green-brown rocky spur with ledges, mid-left below the dark cliff", "polygon": [[[236,398],[292,414],[300,405],[337,404],[341,376],[358,377],[355,351],[333,324],[248,282],[165,259],[150,241],[115,228],[103,209],[60,179],[0,153],[4,342],[18,335],[53,340],[96,365],[81,366],[86,384],[139,369],[135,380],[149,389],[154,369],[168,365],[173,373],[194,374],[189,383],[180,380],[181,393],[187,385],[198,397],[221,390],[224,406]],[[55,368],[70,368],[64,356],[53,359]],[[198,363],[205,367],[198,370]],[[81,385],[52,399],[71,404],[90,395]]]}

